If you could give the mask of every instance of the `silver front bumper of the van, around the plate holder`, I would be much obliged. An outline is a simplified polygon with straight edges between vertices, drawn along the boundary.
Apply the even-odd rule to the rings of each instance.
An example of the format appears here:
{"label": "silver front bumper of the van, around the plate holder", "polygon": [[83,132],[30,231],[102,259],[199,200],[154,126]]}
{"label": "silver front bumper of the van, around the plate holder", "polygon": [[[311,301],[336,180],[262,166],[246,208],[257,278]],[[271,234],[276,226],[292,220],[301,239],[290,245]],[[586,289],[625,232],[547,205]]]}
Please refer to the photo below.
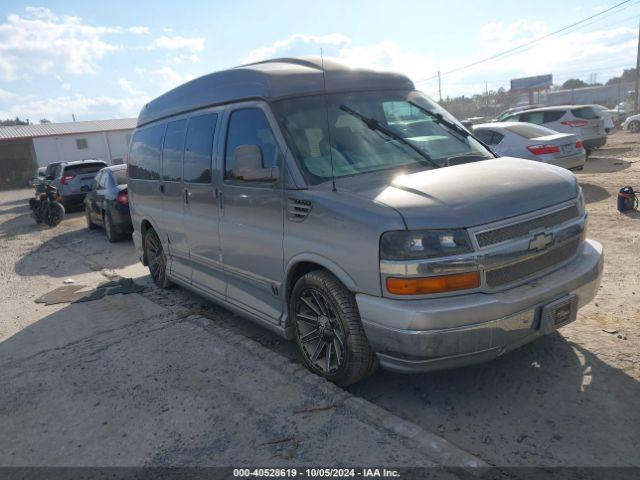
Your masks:
{"label": "silver front bumper of the van, around the plate holder", "polygon": [[596,295],[602,245],[585,241],[564,267],[503,292],[423,300],[357,294],[365,333],[380,364],[425,372],[490,360],[542,335],[541,307],[568,294],[578,308]]}

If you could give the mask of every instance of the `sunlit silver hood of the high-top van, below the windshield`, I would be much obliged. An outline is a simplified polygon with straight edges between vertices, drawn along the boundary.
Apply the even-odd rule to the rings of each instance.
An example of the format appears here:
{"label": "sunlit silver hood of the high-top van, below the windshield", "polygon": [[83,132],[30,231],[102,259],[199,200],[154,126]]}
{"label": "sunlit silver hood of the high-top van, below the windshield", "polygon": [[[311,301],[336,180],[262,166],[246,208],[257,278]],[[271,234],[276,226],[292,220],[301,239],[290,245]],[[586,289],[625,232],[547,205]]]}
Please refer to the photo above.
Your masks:
{"label": "sunlit silver hood of the high-top van, below the windshield", "polygon": [[397,210],[407,228],[482,225],[578,195],[575,175],[554,165],[502,157],[400,175],[354,192]]}

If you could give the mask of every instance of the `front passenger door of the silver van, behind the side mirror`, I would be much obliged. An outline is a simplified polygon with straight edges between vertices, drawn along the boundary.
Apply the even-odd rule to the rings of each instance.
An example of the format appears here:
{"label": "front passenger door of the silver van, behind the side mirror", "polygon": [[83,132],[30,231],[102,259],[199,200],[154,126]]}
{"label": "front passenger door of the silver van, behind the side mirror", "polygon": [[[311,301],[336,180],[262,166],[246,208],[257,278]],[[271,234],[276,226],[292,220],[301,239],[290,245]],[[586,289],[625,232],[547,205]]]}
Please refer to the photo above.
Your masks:
{"label": "front passenger door of the silver van, behind the side mirror", "polygon": [[220,226],[227,300],[277,323],[283,313],[283,182],[243,180],[236,175],[234,157],[239,147],[255,145],[262,154],[262,167],[277,166],[282,172],[282,149],[269,116],[258,102],[227,114]]}

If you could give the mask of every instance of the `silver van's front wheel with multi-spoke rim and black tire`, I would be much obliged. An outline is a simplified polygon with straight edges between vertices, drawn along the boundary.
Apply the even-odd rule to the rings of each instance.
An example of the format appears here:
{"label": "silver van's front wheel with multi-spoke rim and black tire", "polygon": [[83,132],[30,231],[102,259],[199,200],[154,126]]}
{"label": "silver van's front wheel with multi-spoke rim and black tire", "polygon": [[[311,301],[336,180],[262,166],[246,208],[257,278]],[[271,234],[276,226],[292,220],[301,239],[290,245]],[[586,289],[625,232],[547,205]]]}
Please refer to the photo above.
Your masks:
{"label": "silver van's front wheel with multi-spoke rim and black tire", "polygon": [[309,370],[346,387],[371,375],[377,359],[355,297],[326,270],[307,273],[289,301],[296,344]]}

